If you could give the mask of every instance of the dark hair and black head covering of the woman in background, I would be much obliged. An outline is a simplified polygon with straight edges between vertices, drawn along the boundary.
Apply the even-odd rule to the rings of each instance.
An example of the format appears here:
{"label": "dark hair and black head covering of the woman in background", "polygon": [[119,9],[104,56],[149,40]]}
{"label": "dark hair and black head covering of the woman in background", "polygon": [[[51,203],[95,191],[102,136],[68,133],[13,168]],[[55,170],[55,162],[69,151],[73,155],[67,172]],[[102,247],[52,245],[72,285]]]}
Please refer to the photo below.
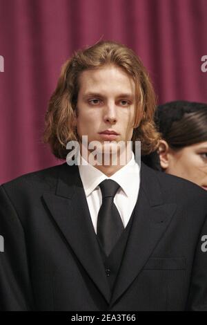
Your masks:
{"label": "dark hair and black head covering of the woman in background", "polygon": [[[155,113],[157,130],[172,150],[207,141],[207,104],[175,101],[159,105]],[[142,160],[161,171],[157,151]]]}

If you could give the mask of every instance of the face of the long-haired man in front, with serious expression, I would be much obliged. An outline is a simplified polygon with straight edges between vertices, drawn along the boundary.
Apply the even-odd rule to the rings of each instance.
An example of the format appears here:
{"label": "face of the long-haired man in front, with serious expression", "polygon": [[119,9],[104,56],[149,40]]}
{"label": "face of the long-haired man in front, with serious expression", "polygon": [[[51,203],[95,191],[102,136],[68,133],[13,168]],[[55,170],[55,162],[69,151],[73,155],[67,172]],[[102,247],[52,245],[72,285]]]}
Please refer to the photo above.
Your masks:
{"label": "face of the long-haired man in front, with serious expression", "polygon": [[[93,140],[101,142],[101,150],[104,141],[131,140],[135,82],[114,65],[83,71],[79,76],[77,111],[79,137],[88,136],[88,143]],[[106,134],[110,131],[117,134]]]}

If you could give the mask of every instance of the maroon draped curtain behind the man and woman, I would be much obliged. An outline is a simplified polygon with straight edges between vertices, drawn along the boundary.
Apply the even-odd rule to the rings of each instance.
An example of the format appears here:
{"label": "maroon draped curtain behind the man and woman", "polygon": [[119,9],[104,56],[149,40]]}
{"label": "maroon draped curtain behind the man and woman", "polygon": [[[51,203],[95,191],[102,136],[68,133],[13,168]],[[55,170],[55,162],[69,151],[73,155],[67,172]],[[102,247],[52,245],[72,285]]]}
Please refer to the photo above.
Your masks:
{"label": "maroon draped curtain behind the man and woman", "polygon": [[0,0],[0,183],[62,163],[41,134],[74,50],[101,37],[121,41],[150,71],[159,102],[207,102],[206,36],[206,0]]}

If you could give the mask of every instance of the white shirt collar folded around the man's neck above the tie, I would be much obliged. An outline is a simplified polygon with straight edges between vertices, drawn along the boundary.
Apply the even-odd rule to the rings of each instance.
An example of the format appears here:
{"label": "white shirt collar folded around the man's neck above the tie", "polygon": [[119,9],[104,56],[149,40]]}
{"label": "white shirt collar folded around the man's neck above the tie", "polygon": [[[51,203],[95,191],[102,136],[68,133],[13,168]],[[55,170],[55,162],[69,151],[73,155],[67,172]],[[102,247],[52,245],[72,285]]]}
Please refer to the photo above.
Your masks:
{"label": "white shirt collar folded around the man's neck above the tie", "polygon": [[[83,157],[83,163],[79,165],[79,174],[83,183],[83,188],[86,197],[94,191],[99,184],[105,179],[115,180],[123,189],[126,196],[132,196],[134,189],[137,187],[139,181],[139,165],[135,161],[135,155],[132,152],[130,161],[115,172],[112,176],[108,177],[96,167],[90,165]],[[138,178],[138,179],[137,179]]]}

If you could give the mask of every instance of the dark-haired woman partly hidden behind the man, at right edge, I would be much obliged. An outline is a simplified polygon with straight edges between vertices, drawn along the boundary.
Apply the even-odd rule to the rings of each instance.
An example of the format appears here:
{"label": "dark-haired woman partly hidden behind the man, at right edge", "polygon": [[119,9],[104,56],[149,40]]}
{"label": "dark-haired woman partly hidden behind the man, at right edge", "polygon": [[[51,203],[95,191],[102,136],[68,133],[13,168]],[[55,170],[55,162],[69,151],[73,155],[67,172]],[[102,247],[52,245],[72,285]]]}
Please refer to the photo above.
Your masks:
{"label": "dark-haired woman partly hidden behind the man, at right edge", "polygon": [[207,190],[207,104],[167,102],[157,107],[155,122],[162,139],[144,162]]}

